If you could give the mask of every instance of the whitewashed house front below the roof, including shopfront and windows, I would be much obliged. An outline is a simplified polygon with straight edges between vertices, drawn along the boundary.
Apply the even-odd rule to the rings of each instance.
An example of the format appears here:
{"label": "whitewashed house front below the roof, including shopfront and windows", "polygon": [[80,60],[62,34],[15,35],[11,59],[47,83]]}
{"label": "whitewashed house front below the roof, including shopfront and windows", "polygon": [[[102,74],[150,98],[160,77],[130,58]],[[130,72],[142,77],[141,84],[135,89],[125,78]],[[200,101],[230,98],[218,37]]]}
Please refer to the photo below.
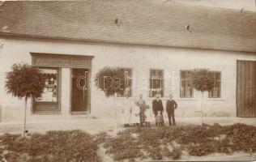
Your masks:
{"label": "whitewashed house front below the roof, including shopfront and windows", "polygon": [[[17,62],[39,66],[45,75],[49,75],[49,93],[45,92],[41,100],[32,102],[28,120],[68,119],[76,115],[114,117],[113,98],[106,98],[94,83],[84,94],[83,88],[79,89],[77,85],[80,76],[92,80],[104,66],[118,66],[130,71],[133,79],[131,97],[135,100],[143,94],[150,105],[154,92],[154,85],[150,85],[151,76],[161,78],[162,100],[165,104],[169,94],[173,94],[179,104],[177,117],[198,115],[201,94],[190,87],[186,75],[195,68],[207,68],[215,71],[216,79],[220,80],[214,92],[205,94],[207,116],[255,117],[255,109],[242,107],[241,112],[237,109],[241,93],[255,102],[255,96],[251,96],[254,90],[250,91],[255,88],[255,75],[246,75],[255,74],[254,53],[6,37],[1,57],[2,122],[21,120],[23,117],[23,100],[6,95],[4,89],[5,73]],[[245,73],[242,73],[243,70]],[[239,80],[245,76],[248,77],[246,80]],[[55,85],[55,90],[51,89],[51,84]],[[238,94],[238,87],[243,85],[246,91]],[[156,85],[156,88],[159,86]],[[117,109],[122,108],[122,100],[124,97],[117,96]]]}

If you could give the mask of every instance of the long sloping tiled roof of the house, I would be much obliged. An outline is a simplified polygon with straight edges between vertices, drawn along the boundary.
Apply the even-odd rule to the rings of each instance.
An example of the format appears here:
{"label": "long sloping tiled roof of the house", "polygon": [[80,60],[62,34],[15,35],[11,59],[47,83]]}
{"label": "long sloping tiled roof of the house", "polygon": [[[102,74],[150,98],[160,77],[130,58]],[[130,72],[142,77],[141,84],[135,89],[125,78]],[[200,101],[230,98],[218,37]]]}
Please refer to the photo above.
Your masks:
{"label": "long sloping tiled roof of the house", "polygon": [[155,0],[3,2],[0,34],[256,52],[256,12]]}

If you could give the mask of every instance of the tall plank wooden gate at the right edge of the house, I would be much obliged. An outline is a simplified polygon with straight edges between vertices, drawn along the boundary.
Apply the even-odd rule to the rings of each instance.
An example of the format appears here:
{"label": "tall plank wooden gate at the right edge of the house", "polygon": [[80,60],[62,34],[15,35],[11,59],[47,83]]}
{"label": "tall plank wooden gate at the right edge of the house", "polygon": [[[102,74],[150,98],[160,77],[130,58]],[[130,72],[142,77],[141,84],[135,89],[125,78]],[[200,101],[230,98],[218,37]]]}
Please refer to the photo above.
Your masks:
{"label": "tall plank wooden gate at the right edge of the house", "polygon": [[256,117],[256,62],[237,61],[237,117]]}

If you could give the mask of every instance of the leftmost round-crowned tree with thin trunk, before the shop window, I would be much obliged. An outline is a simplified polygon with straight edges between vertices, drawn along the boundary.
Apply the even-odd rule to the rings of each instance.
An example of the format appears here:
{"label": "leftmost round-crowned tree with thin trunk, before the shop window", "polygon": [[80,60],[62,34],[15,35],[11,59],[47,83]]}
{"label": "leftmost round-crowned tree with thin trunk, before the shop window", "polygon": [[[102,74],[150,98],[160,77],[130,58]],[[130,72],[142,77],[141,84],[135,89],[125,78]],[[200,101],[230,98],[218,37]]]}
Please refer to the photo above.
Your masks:
{"label": "leftmost round-crowned tree with thin trunk, before the shop window", "polygon": [[45,79],[41,75],[40,70],[35,66],[27,64],[14,64],[11,71],[6,74],[6,91],[12,96],[23,99],[23,130],[24,136],[26,130],[26,110],[28,98],[40,97],[45,87]]}

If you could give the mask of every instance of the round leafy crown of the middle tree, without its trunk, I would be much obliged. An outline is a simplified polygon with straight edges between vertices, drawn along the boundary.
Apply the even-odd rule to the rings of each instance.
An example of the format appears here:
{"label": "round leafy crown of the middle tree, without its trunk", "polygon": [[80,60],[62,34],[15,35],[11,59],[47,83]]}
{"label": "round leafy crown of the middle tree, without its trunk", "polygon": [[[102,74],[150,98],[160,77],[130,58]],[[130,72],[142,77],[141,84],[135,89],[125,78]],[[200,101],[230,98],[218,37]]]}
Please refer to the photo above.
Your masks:
{"label": "round leafy crown of the middle tree, without its trunk", "polygon": [[94,79],[96,87],[105,92],[105,96],[114,96],[115,93],[123,95],[125,86],[125,74],[119,67],[105,66],[99,70]]}

